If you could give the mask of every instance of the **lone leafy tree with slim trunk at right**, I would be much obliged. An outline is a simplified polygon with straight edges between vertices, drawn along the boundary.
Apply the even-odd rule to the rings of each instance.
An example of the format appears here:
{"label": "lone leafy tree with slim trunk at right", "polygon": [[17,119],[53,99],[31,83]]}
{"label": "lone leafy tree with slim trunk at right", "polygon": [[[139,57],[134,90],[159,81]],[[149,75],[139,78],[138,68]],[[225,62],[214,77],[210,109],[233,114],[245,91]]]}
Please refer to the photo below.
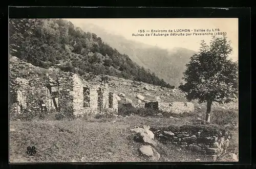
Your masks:
{"label": "lone leafy tree with slim trunk at right", "polygon": [[207,102],[206,122],[210,123],[212,102],[229,103],[237,99],[238,63],[228,59],[232,47],[226,36],[213,36],[209,45],[202,40],[198,54],[186,64],[180,88],[187,92],[186,98],[199,103]]}

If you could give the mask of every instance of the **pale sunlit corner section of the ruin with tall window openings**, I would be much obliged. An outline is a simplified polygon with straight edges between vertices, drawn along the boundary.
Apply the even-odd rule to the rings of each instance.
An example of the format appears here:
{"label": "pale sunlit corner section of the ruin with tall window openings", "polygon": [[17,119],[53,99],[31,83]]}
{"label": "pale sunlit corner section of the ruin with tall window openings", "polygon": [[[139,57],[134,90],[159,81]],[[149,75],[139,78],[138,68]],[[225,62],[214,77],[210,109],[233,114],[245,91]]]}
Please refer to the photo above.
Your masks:
{"label": "pale sunlit corner section of the ruin with tall window openings", "polygon": [[104,109],[117,110],[118,103],[114,97],[112,108],[109,107],[110,91],[106,84],[84,84],[76,74],[63,72],[57,74],[57,81],[60,113],[65,114],[67,108],[74,115],[91,115]]}

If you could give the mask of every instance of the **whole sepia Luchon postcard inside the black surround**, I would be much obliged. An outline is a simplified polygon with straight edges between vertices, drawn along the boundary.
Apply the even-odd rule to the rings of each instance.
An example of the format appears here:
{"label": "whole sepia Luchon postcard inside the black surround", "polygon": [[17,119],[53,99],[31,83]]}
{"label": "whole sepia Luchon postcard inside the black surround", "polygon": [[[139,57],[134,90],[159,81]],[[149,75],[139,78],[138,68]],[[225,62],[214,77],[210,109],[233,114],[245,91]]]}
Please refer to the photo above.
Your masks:
{"label": "whole sepia Luchon postcard inside the black surround", "polygon": [[239,161],[238,18],[9,19],[9,161]]}

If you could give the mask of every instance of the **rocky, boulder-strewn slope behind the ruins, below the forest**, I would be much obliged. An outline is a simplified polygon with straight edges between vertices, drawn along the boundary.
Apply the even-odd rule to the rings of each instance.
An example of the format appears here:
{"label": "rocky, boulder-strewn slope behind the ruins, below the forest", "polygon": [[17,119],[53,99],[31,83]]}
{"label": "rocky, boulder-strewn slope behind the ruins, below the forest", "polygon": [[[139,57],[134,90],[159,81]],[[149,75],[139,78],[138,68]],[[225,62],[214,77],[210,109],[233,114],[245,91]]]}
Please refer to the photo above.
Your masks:
{"label": "rocky, boulder-strewn slope behind the ruins, below the forest", "polygon": [[[10,87],[12,88],[12,80],[13,78],[25,78],[25,79],[33,79],[33,78],[41,78],[44,77],[45,74],[48,74],[53,80],[56,80],[56,73],[60,71],[59,68],[54,66],[46,68],[41,68],[38,66],[34,66],[30,63],[22,61],[17,57],[10,56]],[[110,86],[110,89],[117,95],[120,96],[121,101],[119,103],[127,103],[127,99],[131,100],[134,106],[143,105],[143,103],[139,103],[137,99],[137,95],[143,95],[145,101],[159,101],[159,102],[186,102],[185,93],[180,91],[178,88],[169,89],[166,87],[160,87],[157,85],[147,84],[144,82],[137,82],[133,80],[127,80],[123,78],[106,76],[106,75],[94,75],[90,73],[84,73],[81,76],[82,79],[88,81],[91,84],[98,84],[102,81],[105,81]],[[195,107],[201,107],[201,111],[206,110],[206,104],[198,104],[197,101],[193,101]],[[229,104],[218,104],[214,103],[212,108],[232,108],[238,109],[238,104],[229,103]]]}

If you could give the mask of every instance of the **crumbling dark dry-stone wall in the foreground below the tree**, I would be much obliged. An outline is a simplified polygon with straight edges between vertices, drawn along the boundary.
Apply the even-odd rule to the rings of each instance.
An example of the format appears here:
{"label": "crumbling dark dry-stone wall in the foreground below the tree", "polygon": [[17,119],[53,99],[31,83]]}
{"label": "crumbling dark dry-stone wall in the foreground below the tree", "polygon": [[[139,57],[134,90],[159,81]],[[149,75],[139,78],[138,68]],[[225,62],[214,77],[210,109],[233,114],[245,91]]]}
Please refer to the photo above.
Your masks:
{"label": "crumbling dark dry-stone wall in the foreground below the tree", "polygon": [[[217,155],[222,154],[229,147],[231,138],[224,134],[225,132],[217,134],[218,130],[211,132],[211,127],[208,127],[210,132],[206,134],[205,131],[207,130],[202,131],[196,128],[197,126],[181,126],[180,129],[174,128],[172,130],[172,127],[168,127],[160,130],[156,129],[153,132],[160,142],[176,144],[180,148],[209,156],[212,160],[216,160]],[[204,126],[202,129],[207,129],[207,127]]]}

